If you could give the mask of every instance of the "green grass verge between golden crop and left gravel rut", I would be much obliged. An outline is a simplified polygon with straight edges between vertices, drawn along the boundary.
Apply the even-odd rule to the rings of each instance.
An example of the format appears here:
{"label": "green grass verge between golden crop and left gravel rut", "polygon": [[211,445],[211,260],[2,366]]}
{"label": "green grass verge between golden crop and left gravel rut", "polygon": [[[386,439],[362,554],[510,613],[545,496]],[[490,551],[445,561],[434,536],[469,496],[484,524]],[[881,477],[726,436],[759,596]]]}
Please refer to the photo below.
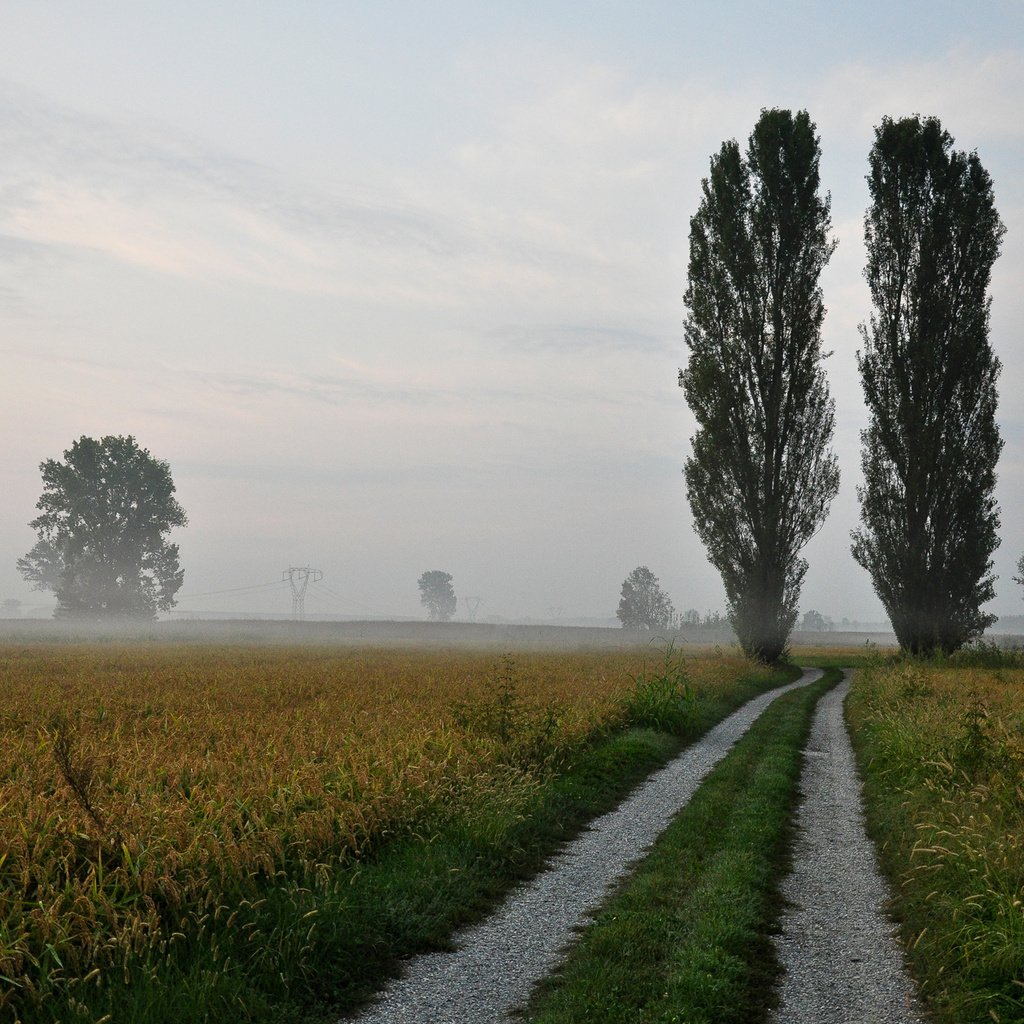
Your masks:
{"label": "green grass verge between golden crop and left gravel rut", "polygon": [[[335,1021],[378,991],[402,957],[445,948],[458,927],[483,916],[686,741],[797,675],[760,672],[708,695],[652,671],[637,682],[633,727],[539,777],[518,803],[478,807],[312,882],[267,879],[261,898],[222,908],[201,934],[172,936],[134,958],[126,951],[123,978],[83,980],[24,1024],[95,1024],[104,1015],[111,1024]],[[674,731],[649,727],[655,721]]]}

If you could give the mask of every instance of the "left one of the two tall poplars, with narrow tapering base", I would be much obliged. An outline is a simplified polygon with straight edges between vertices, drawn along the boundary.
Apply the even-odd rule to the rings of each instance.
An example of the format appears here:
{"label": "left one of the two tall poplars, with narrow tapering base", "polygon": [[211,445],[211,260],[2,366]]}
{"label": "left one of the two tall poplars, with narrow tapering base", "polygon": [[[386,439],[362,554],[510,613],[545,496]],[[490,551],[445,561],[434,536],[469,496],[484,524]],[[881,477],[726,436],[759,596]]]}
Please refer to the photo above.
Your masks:
{"label": "left one of the two tall poplars, with narrow tapering base", "polygon": [[839,489],[818,285],[836,243],[819,156],[806,111],[762,111],[745,159],[734,140],[712,158],[690,220],[687,497],[736,636],[767,663],[786,650],[800,551]]}

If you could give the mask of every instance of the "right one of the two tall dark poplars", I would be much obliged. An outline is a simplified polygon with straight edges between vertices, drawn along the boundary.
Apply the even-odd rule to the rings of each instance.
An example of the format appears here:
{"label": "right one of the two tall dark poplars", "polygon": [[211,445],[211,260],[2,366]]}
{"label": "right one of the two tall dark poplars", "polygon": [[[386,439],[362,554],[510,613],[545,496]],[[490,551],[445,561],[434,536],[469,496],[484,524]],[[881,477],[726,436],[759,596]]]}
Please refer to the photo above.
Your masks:
{"label": "right one of the two tall dark poplars", "polygon": [[995,616],[999,360],[988,283],[1005,228],[976,153],[936,118],[876,129],[864,218],[873,311],[858,352],[862,527],[854,558],[914,654],[951,652]]}

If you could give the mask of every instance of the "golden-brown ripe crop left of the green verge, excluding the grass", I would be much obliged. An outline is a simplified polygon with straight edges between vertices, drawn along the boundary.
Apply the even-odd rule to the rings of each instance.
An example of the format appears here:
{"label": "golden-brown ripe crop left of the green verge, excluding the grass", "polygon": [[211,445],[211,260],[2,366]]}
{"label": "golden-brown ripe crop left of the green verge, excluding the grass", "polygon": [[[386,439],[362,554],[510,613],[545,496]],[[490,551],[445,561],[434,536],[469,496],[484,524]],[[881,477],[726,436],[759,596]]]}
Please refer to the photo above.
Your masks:
{"label": "golden-brown ripe crop left of the green verge, excluding the grass", "polygon": [[[524,801],[625,721],[644,657],[0,647],[0,1017],[127,976],[278,878]],[[715,690],[751,667],[688,673]]]}

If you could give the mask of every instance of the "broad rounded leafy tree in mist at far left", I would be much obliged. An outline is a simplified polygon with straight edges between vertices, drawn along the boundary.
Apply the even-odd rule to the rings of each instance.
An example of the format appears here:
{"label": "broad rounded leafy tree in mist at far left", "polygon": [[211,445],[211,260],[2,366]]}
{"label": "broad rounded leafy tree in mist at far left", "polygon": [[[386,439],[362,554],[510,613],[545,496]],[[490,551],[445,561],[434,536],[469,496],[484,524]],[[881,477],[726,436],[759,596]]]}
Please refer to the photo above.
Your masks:
{"label": "broad rounded leafy tree in mist at far left", "polygon": [[184,579],[165,535],[187,522],[166,462],[134,437],[81,437],[63,462],[40,464],[39,534],[17,560],[36,590],[56,596],[57,617],[155,618]]}

